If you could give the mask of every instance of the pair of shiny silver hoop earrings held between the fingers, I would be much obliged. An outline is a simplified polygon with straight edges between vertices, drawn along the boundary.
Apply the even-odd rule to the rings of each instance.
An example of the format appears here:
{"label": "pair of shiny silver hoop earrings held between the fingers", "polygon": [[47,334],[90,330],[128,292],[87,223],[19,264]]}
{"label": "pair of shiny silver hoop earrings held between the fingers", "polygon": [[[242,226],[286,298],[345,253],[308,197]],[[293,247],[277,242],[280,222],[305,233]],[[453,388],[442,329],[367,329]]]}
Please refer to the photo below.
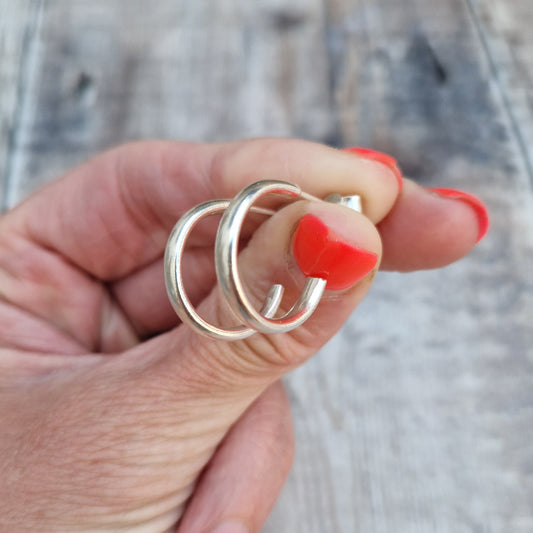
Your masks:
{"label": "pair of shiny silver hoop earrings held between the fingers", "polygon": [[[211,200],[197,205],[185,213],[174,226],[165,250],[165,284],[170,302],[182,322],[203,335],[215,339],[235,341],[256,332],[284,333],[303,324],[315,311],[326,288],[326,280],[308,277],[300,297],[283,316],[276,313],[283,297],[283,286],[273,285],[261,310],[252,306],[239,275],[237,263],[239,237],[248,212],[271,216],[270,209],[254,206],[267,194],[283,195],[289,201],[309,200],[344,205],[362,212],[358,195],[332,194],[321,200],[302,191],[298,185],[286,181],[262,180],[248,185],[232,200]],[[228,309],[242,324],[222,328],[205,321],[187,297],[181,272],[181,263],[187,238],[200,220],[222,214],[215,239],[215,269],[218,284],[228,304]]]}

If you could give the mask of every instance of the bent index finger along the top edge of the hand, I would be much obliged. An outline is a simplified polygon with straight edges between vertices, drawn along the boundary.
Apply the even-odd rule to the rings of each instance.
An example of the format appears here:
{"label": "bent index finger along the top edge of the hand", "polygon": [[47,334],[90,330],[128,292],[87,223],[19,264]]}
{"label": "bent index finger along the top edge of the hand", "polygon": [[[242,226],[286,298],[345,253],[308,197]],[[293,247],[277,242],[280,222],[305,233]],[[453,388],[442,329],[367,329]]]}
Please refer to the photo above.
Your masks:
{"label": "bent index finger along the top edge of the hand", "polygon": [[5,223],[92,276],[116,280],[161,256],[170,229],[186,210],[231,197],[258,179],[287,180],[318,197],[360,194],[373,222],[386,215],[398,194],[396,177],[385,165],[320,144],[140,142],[73,170]]}

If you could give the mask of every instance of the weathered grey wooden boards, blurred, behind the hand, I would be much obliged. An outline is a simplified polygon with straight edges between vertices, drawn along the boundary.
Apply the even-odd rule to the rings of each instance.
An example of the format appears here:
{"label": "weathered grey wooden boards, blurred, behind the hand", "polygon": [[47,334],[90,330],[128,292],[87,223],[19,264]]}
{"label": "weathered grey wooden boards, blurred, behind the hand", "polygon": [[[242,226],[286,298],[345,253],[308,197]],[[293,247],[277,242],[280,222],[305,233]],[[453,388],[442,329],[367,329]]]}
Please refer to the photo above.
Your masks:
{"label": "weathered grey wooden boards, blurred, behind the hand", "polygon": [[533,531],[531,0],[0,0],[3,208],[137,138],[299,136],[482,197],[457,265],[383,274],[288,379],[267,533]]}

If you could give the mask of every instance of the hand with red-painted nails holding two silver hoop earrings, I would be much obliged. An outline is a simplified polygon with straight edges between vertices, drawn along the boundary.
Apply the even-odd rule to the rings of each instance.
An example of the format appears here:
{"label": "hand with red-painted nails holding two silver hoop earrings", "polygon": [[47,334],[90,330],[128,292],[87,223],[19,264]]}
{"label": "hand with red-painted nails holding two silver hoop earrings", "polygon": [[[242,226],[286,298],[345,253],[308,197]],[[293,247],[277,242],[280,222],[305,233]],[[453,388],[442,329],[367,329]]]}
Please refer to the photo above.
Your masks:
{"label": "hand with red-painted nails holding two silver hoop earrings", "polygon": [[[269,178],[358,193],[366,216],[297,202],[264,222],[240,255],[258,302],[274,282],[289,302],[299,294],[290,242],[304,214],[388,269],[442,266],[478,236],[465,202],[408,180],[399,195],[387,166],[294,140],[131,144],[52,183],[0,218],[2,531],[162,532],[182,515],[179,532],[226,520],[259,531],[292,456],[279,378],[335,334],[373,278],[330,292],[288,334],[226,343],[180,326],[162,273],[172,226]],[[189,296],[221,323],[213,226],[191,242]]]}

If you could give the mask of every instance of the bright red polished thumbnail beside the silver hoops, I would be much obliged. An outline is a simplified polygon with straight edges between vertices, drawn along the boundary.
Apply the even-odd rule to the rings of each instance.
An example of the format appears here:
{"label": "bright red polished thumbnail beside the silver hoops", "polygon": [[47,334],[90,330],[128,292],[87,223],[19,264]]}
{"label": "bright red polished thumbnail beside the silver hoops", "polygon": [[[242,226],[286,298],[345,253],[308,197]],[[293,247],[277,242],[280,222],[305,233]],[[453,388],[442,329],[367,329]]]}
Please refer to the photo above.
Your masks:
{"label": "bright red polished thumbnail beside the silver hoops", "polygon": [[378,262],[377,254],[344,242],[314,215],[305,215],[300,220],[293,252],[306,276],[327,280],[326,287],[332,290],[351,287]]}

